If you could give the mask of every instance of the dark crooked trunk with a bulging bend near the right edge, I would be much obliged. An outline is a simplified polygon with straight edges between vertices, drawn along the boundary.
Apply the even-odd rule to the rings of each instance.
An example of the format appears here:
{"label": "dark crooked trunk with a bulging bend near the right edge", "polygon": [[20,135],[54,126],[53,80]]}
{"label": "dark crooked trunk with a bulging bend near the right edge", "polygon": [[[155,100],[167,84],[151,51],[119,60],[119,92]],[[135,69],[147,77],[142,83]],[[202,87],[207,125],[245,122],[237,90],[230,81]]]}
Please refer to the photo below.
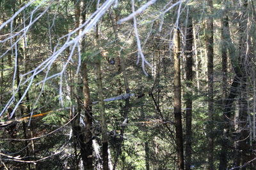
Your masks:
{"label": "dark crooked trunk with a bulging bend near the right edge", "polygon": [[[232,113],[232,104],[234,103],[236,97],[239,96],[239,94],[243,93],[244,90],[246,90],[246,76],[244,75],[245,69],[243,68],[244,67],[243,64],[241,64],[243,63],[241,62],[241,57],[237,55],[236,48],[232,43],[232,39],[230,38],[230,31],[228,27],[228,17],[225,17],[225,22],[226,22],[225,26],[227,27],[227,32],[225,32],[225,34],[223,35],[225,35],[225,40],[228,42],[227,48],[230,54],[230,60],[231,60],[232,66],[234,68],[235,77],[230,87],[230,93],[227,99],[225,100],[225,111],[223,113],[223,119],[225,124],[223,127],[223,139],[221,140],[221,154],[220,154],[220,165],[219,165],[220,170],[227,169],[227,153],[228,153],[227,144],[228,144],[228,132],[230,131],[230,115]],[[241,39],[241,43],[243,43],[242,39]],[[245,105],[247,106],[247,104]],[[241,117],[241,115],[243,115],[244,117],[244,114],[245,114],[244,113],[245,111],[243,111],[244,104],[242,104],[241,107],[242,106],[243,108],[241,108],[239,117]],[[246,116],[247,116],[247,113],[246,113]],[[241,125],[244,126],[243,124]],[[245,135],[244,132],[242,132],[241,134],[242,136]],[[241,142],[238,143],[237,152],[240,150],[239,148],[241,148],[241,145],[243,144],[244,143],[241,143]],[[235,153],[235,155],[237,154],[238,153]],[[239,166],[240,160],[241,160],[241,156],[237,155],[237,162],[235,162],[235,166]]]}

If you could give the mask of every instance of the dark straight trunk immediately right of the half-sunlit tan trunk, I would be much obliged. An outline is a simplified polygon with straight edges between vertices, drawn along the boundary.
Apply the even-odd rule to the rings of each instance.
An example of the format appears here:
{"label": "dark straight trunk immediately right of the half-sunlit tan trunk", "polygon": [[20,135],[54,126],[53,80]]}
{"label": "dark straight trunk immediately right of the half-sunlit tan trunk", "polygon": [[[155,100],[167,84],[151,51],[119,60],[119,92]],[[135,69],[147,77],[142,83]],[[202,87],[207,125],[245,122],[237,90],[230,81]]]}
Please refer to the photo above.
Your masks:
{"label": "dark straight trunk immediately right of the half-sunlit tan trunk", "polygon": [[186,34],[186,169],[191,169],[191,140],[192,140],[192,97],[191,85],[193,81],[193,24],[192,18],[188,18]]}

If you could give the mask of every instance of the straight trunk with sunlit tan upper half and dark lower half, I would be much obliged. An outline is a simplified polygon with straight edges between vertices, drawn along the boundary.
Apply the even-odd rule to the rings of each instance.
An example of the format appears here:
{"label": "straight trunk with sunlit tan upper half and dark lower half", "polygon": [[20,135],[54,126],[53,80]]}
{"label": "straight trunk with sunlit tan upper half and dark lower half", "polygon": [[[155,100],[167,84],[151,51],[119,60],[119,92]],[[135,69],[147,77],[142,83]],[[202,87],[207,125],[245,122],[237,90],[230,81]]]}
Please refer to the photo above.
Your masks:
{"label": "straight trunk with sunlit tan upper half and dark lower half", "polygon": [[174,57],[174,118],[177,143],[177,164],[179,169],[184,169],[182,116],[181,116],[181,87],[180,87],[180,32],[177,28],[173,34],[173,57]]}

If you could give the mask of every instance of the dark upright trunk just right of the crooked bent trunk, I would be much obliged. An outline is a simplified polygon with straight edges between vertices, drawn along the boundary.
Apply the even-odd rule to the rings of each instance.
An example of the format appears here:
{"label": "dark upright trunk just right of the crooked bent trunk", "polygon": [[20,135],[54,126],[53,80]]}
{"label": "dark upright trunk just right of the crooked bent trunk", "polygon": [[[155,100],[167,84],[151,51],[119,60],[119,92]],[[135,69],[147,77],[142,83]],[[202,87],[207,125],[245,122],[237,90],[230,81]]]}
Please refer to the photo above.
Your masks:
{"label": "dark upright trunk just right of the crooked bent trunk", "polygon": [[[249,154],[249,139],[248,136],[250,135],[248,132],[248,97],[246,93],[247,88],[247,76],[246,73],[246,50],[250,51],[250,49],[246,49],[246,44],[249,43],[249,39],[246,39],[246,34],[244,34],[244,30],[248,29],[248,0],[244,0],[241,4],[241,9],[243,10],[241,20],[239,22],[239,33],[240,33],[240,43],[239,43],[239,66],[241,70],[241,79],[240,79],[240,88],[239,88],[239,131],[240,135],[237,136],[238,141],[238,157],[241,158],[241,161],[237,161],[236,164],[244,165],[248,161],[250,161],[250,154]],[[250,48],[250,46],[248,46]],[[243,166],[241,169],[247,169],[248,166]]]}

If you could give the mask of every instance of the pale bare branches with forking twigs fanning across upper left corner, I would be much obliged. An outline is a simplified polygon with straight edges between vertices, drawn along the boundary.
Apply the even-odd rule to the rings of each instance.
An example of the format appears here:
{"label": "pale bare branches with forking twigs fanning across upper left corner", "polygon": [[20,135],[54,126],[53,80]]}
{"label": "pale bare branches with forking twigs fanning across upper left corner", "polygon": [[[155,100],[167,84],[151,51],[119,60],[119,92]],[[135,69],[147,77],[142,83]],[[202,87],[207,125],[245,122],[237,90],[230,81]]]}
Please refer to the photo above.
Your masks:
{"label": "pale bare branches with forking twigs fanning across upper left corner", "polygon": [[[31,1],[30,3],[28,3],[26,6],[24,6],[23,8],[21,8],[19,10],[19,13],[24,10],[25,8],[27,8],[31,3],[33,3],[34,1]],[[45,1],[43,1],[40,4],[43,4]],[[49,2],[53,2],[52,0]],[[40,13],[40,15],[38,15],[38,17],[36,17],[33,20],[33,13],[36,11],[36,9],[39,8],[40,5],[36,6],[36,9],[33,10],[33,12],[31,13],[31,17],[30,17],[30,22],[29,24],[24,27],[21,31],[17,32],[16,34],[12,35],[10,34],[9,38],[4,39],[2,42],[7,41],[8,39],[14,39],[16,36],[20,35],[20,32],[24,32],[19,38],[17,38],[17,41],[15,41],[13,43],[13,45],[11,46],[11,49],[13,48],[13,46],[15,47],[15,49],[17,50],[16,46],[17,43],[19,43],[19,41],[22,39],[22,37],[26,36],[26,32],[28,32],[29,27],[31,27],[31,25],[33,25],[36,20],[38,20],[40,17],[42,17],[42,15],[44,15],[44,13],[49,9],[49,7],[51,6],[51,3],[47,6],[47,8]],[[60,47],[60,49],[58,48],[58,44],[54,47],[54,52],[52,53],[51,56],[49,56],[46,60],[44,60],[44,62],[42,62],[41,64],[39,64],[39,66],[37,66],[35,69],[29,71],[28,73],[25,73],[21,76],[21,79],[24,78],[24,76],[27,76],[28,74],[32,74],[31,76],[29,76],[28,78],[26,78],[26,80],[24,80],[23,82],[20,81],[20,85],[24,85],[25,83],[27,83],[29,81],[29,85],[26,87],[26,90],[24,91],[24,93],[22,94],[22,97],[20,98],[20,100],[15,104],[15,107],[11,113],[11,117],[13,116],[13,114],[15,113],[15,111],[17,110],[17,107],[19,106],[19,104],[21,103],[21,101],[24,99],[24,97],[26,96],[26,94],[28,93],[29,88],[31,87],[31,85],[33,84],[33,80],[35,78],[35,76],[39,73],[41,73],[42,71],[44,71],[45,69],[47,69],[47,75],[49,73],[49,70],[51,69],[52,63],[54,61],[56,61],[56,59],[58,59],[58,57],[61,55],[61,53],[66,50],[69,46],[72,46],[72,52],[70,53],[67,61],[63,64],[63,67],[60,71],[60,73],[55,74],[54,76],[51,76],[51,78],[55,77],[55,76],[60,76],[60,102],[61,105],[63,106],[63,99],[62,99],[62,74],[64,73],[67,64],[70,60],[72,60],[72,54],[74,53],[74,49],[76,48],[76,46],[79,43],[79,40],[81,38],[83,38],[84,34],[86,34],[88,31],[90,31],[90,29],[92,29],[92,27],[97,24],[97,22],[100,20],[100,18],[106,13],[106,11],[110,8],[110,6],[115,3],[115,0],[108,0],[106,1],[104,4],[102,4],[102,6],[100,6],[100,8],[98,8],[90,18],[88,18],[88,20],[86,20],[86,22],[84,22],[84,24],[80,25],[77,29],[75,29],[74,31],[68,33],[67,35],[63,36],[60,39],[63,39],[65,37],[67,37],[66,42]],[[17,15],[19,14],[17,13]],[[17,16],[15,15],[15,17]],[[0,26],[0,29],[4,27],[4,25],[8,24],[9,22],[12,22],[12,20],[15,18],[12,17],[10,18],[8,21],[4,22],[4,24],[2,24]],[[83,29],[84,28],[84,29]],[[81,31],[81,34],[78,34],[77,36],[75,36],[73,39],[71,39],[71,36],[73,36],[77,31],[79,31],[79,29],[83,29],[83,31]],[[59,39],[59,41],[60,41]],[[15,52],[17,52],[15,50]],[[79,48],[78,48],[79,51]],[[7,51],[8,52],[8,51]],[[7,52],[5,52],[3,55],[5,55]],[[1,57],[3,57],[3,55]],[[15,55],[17,56],[17,54]],[[79,53],[79,61],[78,61],[78,65],[81,65],[81,54]],[[15,66],[17,67],[17,66]],[[79,67],[77,68],[79,69]],[[15,79],[15,75],[13,75],[13,79]],[[45,76],[45,79],[43,81],[41,81],[42,83],[45,83],[45,81],[49,80],[50,78],[48,78],[47,76]],[[12,97],[10,97],[8,103],[6,103],[6,106],[4,107],[4,109],[1,111],[0,116],[3,115],[3,113],[6,111],[6,109],[8,108],[8,106],[10,106],[10,104],[13,103],[14,99],[15,99],[15,95],[18,92],[18,89],[20,88],[20,85],[17,87],[16,90],[13,90],[13,95]],[[44,84],[43,84],[43,88],[44,89]],[[41,93],[42,94],[42,90]],[[36,103],[38,102],[40,96],[38,96],[38,98],[36,99]],[[34,105],[36,104],[34,103]],[[31,112],[31,115],[33,115],[33,111]]]}

